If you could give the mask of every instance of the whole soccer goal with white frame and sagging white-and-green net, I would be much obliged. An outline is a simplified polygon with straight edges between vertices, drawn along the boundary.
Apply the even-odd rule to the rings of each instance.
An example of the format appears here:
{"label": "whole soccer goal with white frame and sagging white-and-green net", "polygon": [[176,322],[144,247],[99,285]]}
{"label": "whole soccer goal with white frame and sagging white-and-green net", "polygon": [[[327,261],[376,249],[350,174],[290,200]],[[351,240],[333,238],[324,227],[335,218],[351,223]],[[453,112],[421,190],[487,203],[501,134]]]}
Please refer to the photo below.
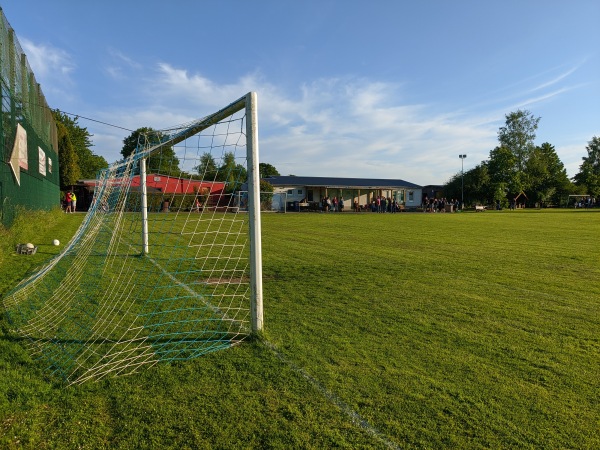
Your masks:
{"label": "whole soccer goal with white frame and sagging white-and-green net", "polygon": [[13,332],[67,383],[260,332],[259,181],[256,93],[140,134],[128,158],[99,174],[73,239],[3,299]]}

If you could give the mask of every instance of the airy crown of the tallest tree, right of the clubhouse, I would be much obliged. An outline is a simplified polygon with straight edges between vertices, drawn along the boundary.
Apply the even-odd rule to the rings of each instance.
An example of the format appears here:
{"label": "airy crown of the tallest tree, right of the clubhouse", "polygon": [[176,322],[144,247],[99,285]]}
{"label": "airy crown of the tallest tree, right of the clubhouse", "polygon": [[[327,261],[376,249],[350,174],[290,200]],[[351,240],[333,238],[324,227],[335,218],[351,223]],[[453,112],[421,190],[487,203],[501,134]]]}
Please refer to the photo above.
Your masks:
{"label": "airy crown of the tallest tree, right of the clubhouse", "polygon": [[534,117],[529,111],[520,109],[505,117],[505,126],[498,131],[498,141],[500,147],[510,150],[515,156],[517,173],[521,174],[535,148],[533,141],[540,117]]}

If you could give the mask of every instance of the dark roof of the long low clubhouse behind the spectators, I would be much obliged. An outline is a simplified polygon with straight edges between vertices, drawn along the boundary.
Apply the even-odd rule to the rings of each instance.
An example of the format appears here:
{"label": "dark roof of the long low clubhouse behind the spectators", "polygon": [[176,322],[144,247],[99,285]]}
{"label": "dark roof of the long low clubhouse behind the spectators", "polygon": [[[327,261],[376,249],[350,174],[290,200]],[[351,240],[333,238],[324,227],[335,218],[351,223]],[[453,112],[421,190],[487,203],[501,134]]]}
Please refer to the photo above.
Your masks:
{"label": "dark roof of the long low clubhouse behind the spectators", "polygon": [[383,178],[337,178],[337,177],[295,177],[277,176],[264,178],[273,186],[306,186],[344,189],[420,189],[421,186],[404,180],[388,180]]}

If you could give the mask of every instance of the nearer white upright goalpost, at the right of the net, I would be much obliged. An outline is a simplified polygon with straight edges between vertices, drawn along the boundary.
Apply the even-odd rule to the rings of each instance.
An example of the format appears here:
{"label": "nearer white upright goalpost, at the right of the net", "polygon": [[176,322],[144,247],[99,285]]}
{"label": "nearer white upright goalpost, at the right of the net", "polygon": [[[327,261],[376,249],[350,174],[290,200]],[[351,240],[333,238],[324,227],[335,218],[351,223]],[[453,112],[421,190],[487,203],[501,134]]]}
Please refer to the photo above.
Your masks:
{"label": "nearer white upright goalpost, at the right of the net", "polygon": [[246,157],[248,158],[248,220],[250,222],[250,295],[252,332],[263,329],[260,171],[256,92],[246,95]]}

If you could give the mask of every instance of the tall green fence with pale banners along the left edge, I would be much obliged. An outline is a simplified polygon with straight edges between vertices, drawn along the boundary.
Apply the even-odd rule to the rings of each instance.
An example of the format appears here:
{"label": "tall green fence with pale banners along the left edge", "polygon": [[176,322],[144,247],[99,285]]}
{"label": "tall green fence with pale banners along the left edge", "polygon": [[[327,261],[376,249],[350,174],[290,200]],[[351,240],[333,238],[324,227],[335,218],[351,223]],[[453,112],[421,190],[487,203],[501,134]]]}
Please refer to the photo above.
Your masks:
{"label": "tall green fence with pale banners along the left edge", "polygon": [[15,32],[0,9],[0,222],[19,207],[60,204],[56,124]]}

